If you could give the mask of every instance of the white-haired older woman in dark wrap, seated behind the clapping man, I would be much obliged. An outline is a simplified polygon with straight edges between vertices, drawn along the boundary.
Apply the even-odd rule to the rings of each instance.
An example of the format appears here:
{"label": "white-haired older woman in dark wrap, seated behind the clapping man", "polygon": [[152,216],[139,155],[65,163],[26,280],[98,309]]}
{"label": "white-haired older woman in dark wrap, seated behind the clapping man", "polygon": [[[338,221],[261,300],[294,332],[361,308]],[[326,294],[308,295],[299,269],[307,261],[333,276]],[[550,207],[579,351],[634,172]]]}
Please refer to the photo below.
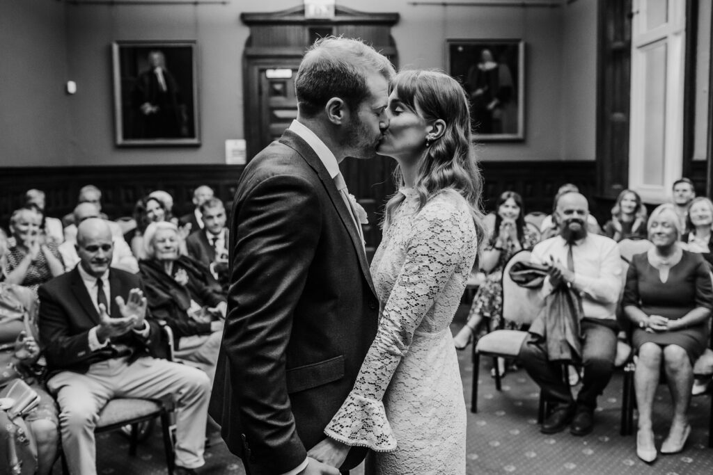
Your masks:
{"label": "white-haired older woman in dark wrap, seated behind the clapping man", "polygon": [[220,284],[202,263],[180,255],[175,224],[157,221],[143,234],[146,259],[139,261],[148,307],[177,338],[176,356],[215,375],[227,303]]}

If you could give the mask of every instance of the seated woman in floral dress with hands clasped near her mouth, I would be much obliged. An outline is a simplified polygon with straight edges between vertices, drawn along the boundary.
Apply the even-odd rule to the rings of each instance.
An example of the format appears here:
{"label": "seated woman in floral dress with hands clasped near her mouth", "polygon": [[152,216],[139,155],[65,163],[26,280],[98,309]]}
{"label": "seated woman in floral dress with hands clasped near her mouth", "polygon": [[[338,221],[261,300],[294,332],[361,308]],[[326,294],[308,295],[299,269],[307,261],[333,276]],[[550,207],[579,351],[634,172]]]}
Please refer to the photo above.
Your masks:
{"label": "seated woman in floral dress with hands clasped near her mouth", "polygon": [[[473,297],[468,322],[453,338],[456,349],[463,350],[478,333],[483,320],[488,320],[490,330],[494,328],[516,329],[515,325],[503,322],[503,268],[510,258],[521,249],[532,249],[538,236],[525,225],[523,199],[515,192],[504,192],[496,203],[495,230],[488,240],[481,257],[481,271],[486,280]],[[505,374],[504,361],[501,374]]]}

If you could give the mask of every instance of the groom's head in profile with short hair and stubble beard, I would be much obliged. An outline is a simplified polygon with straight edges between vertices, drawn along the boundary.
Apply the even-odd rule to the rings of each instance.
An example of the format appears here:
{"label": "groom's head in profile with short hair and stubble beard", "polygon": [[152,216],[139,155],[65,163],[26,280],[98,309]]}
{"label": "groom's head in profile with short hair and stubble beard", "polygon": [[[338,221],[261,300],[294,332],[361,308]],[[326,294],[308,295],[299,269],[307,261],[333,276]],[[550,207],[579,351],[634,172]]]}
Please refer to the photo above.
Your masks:
{"label": "groom's head in profile with short hair and stubble beard", "polygon": [[359,40],[321,38],[302,58],[294,81],[299,120],[329,135],[320,138],[339,147],[332,150],[337,160],[372,157],[389,126],[386,106],[395,73],[385,56]]}

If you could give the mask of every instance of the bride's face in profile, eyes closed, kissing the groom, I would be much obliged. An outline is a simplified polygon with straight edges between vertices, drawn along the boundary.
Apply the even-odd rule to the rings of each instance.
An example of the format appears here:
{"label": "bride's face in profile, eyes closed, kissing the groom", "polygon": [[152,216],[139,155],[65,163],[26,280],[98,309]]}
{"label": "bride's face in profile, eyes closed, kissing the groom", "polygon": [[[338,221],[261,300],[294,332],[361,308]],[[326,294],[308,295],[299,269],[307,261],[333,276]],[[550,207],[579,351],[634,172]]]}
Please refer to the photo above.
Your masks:
{"label": "bride's face in profile, eyes closed, kissing the groom", "polygon": [[389,95],[389,128],[384,132],[376,153],[394,158],[418,159],[426,149],[426,135],[431,126],[426,124],[419,105],[411,109],[402,103],[394,90]]}

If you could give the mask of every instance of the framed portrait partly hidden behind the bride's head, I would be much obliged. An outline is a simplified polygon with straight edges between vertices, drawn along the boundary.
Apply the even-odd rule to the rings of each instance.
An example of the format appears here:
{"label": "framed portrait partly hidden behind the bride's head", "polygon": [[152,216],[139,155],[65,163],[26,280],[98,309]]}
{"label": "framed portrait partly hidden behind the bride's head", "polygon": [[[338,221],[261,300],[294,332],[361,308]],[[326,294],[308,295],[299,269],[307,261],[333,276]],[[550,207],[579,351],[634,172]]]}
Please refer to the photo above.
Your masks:
{"label": "framed portrait partly hidden behind the bride's head", "polygon": [[476,140],[525,139],[525,42],[446,40],[446,71],[471,101]]}

